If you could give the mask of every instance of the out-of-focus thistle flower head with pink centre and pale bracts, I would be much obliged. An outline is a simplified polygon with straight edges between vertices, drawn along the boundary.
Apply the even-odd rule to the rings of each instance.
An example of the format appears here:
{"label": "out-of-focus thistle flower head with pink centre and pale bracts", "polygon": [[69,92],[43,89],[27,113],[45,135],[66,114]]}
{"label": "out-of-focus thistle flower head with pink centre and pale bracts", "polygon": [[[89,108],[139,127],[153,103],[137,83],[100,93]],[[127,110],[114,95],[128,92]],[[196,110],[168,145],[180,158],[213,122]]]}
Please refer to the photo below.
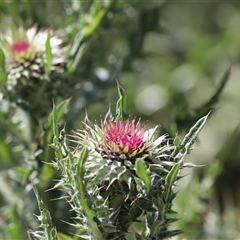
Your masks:
{"label": "out-of-focus thistle flower head with pink centre and pale bracts", "polygon": [[23,86],[36,84],[37,80],[48,79],[46,70],[46,42],[51,46],[51,71],[62,71],[66,48],[63,41],[50,30],[38,30],[37,26],[25,30],[23,27],[8,28],[0,35],[0,48],[5,54],[8,73],[7,89],[17,84]]}

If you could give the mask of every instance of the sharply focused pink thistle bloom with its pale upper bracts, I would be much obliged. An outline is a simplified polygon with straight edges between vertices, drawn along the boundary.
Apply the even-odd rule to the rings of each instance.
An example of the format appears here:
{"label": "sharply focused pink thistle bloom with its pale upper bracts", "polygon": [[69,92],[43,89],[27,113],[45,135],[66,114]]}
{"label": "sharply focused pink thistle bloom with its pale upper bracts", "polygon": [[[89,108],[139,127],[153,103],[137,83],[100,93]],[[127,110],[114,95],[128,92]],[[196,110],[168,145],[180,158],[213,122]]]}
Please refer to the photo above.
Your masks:
{"label": "sharply focused pink thistle bloom with its pale upper bracts", "polygon": [[72,141],[87,147],[94,158],[134,164],[139,158],[151,161],[166,149],[162,143],[167,135],[155,139],[158,126],[146,130],[146,125],[142,125],[140,120],[111,118],[99,126],[86,117],[83,123],[83,130],[77,132]]}

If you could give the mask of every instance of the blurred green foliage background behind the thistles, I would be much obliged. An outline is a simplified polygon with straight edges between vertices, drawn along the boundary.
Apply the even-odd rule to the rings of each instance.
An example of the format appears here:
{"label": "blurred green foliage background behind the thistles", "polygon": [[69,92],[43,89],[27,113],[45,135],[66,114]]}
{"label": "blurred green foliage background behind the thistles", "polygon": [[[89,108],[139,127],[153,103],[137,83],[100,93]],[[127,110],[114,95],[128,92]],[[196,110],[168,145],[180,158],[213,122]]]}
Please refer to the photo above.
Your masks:
{"label": "blurred green foliage background behind the thistles", "polygon": [[[0,32],[4,34],[9,24],[25,28],[37,24],[53,28],[72,46],[84,24],[93,21],[107,4],[1,1]],[[149,126],[160,124],[159,133],[168,132],[172,137],[176,132],[183,136],[197,118],[214,109],[188,157],[189,162],[204,167],[184,172],[186,176],[177,186],[174,209],[181,220],[174,227],[184,233],[176,239],[240,238],[239,29],[238,1],[116,1],[98,29],[84,39],[87,47],[74,73],[62,77],[66,92],[60,99],[72,97],[64,116],[69,133],[80,127],[85,109],[89,118],[99,119],[109,103],[114,107],[116,79],[125,88],[131,115],[148,121]],[[219,101],[203,108],[229,67],[231,75]],[[8,134],[7,116],[11,114],[2,101],[0,236],[2,231],[2,238],[25,239],[26,225],[37,225],[32,215],[37,210],[34,194],[11,175],[11,169],[16,170],[28,158],[24,150],[17,149],[22,147],[19,140],[10,139],[18,134]],[[23,122],[20,131],[27,128]],[[41,174],[39,179],[41,184]],[[44,190],[42,187],[42,196],[51,211],[50,199],[58,193]],[[59,220],[57,228],[67,232],[67,224],[60,221],[65,220],[67,207],[61,201],[54,204],[58,205],[53,211],[53,218]],[[9,229],[13,229],[11,237]]]}

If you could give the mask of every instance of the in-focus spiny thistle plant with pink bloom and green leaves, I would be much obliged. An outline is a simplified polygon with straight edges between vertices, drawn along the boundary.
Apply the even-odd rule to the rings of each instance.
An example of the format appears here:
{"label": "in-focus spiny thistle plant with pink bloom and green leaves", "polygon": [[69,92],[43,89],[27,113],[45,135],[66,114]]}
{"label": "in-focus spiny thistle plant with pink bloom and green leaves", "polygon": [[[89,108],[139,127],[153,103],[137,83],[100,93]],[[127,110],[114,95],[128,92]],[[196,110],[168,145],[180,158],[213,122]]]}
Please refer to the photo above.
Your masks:
{"label": "in-focus spiny thistle plant with pink bloom and green leaves", "polygon": [[183,140],[167,134],[155,138],[158,126],[148,129],[126,112],[126,96],[118,86],[116,113],[110,110],[100,123],[86,116],[82,127],[66,144],[58,130],[58,108],[52,113],[60,188],[76,216],[72,225],[80,239],[165,239],[182,230],[171,229],[178,220],[172,209],[181,170],[207,116]]}

